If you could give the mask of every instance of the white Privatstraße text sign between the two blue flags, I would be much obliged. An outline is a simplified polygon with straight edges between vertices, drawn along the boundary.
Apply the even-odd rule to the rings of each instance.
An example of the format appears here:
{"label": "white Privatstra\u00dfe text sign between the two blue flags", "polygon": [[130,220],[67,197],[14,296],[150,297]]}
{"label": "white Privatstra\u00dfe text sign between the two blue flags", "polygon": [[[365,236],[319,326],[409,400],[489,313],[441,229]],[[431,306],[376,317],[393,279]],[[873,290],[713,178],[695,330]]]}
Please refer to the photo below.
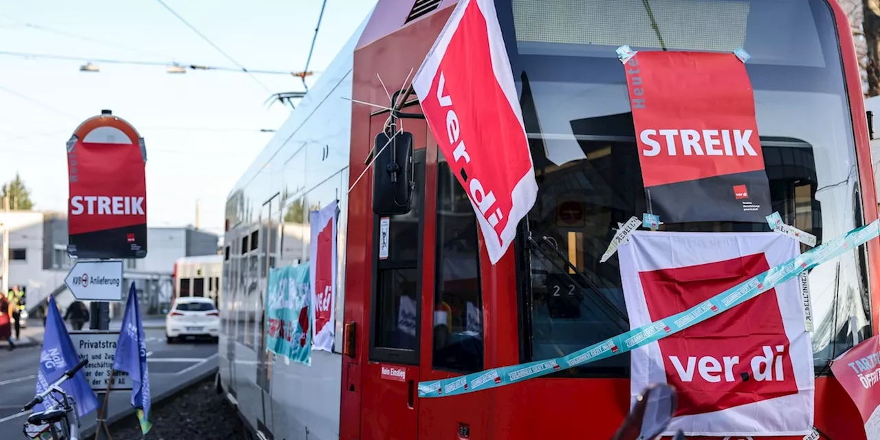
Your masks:
{"label": "white Privatstra\u00dfe text sign between the two blue flags", "polygon": [[[77,348],[79,359],[88,359],[83,367],[85,380],[96,392],[106,392],[107,381],[116,355],[116,341],[119,332],[70,332],[70,341]],[[116,371],[110,391],[124,391],[133,388],[133,382],[125,371]]]}

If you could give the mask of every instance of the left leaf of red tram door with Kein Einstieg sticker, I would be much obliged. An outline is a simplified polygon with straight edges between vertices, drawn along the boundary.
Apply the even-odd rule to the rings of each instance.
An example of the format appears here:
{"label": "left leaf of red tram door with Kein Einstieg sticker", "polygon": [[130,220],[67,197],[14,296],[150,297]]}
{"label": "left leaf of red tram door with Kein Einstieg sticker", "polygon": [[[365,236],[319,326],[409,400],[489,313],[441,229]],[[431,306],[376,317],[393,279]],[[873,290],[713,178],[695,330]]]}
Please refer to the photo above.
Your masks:
{"label": "left leaf of red tram door with Kein Einstieg sticker", "polygon": [[[374,116],[370,133],[380,133],[386,119],[387,114]],[[405,128],[414,136],[412,209],[404,215],[373,219],[370,325],[365,329],[370,333],[369,352],[361,376],[361,440],[418,437],[416,387],[420,377],[427,125],[407,120]]]}

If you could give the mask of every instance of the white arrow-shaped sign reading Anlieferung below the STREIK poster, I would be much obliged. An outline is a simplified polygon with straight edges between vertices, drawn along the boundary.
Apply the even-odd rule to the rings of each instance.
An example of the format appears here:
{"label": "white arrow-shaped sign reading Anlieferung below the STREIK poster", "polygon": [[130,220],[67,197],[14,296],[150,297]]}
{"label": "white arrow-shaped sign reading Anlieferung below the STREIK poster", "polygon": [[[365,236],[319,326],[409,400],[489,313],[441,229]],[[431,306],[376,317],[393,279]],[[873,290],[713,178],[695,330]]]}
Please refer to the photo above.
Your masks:
{"label": "white arrow-shaped sign reading Anlieferung below the STREIK poster", "polygon": [[81,301],[121,301],[122,260],[77,261],[64,284]]}

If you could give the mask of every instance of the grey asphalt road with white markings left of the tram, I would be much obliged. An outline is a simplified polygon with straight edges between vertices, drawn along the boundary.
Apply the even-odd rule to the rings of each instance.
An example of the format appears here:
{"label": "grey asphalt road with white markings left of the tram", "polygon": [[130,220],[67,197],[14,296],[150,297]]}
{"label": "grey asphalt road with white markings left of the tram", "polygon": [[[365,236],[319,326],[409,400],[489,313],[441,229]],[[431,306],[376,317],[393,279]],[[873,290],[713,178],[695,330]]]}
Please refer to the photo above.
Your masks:
{"label": "grey asphalt road with white markings left of the tram", "polygon": [[[111,328],[114,326],[111,324]],[[165,330],[145,328],[147,356],[150,368],[150,394],[179,388],[188,380],[216,368],[216,343],[186,342],[169,345],[165,342]],[[41,335],[40,335],[41,338]],[[4,346],[5,348],[5,346]],[[33,399],[36,389],[36,370],[40,360],[40,346],[0,350],[0,438],[14,440],[26,438],[22,427],[26,422],[23,407]],[[131,408],[130,391],[110,394],[110,414],[121,414]],[[95,414],[82,421],[84,430],[93,427]]]}

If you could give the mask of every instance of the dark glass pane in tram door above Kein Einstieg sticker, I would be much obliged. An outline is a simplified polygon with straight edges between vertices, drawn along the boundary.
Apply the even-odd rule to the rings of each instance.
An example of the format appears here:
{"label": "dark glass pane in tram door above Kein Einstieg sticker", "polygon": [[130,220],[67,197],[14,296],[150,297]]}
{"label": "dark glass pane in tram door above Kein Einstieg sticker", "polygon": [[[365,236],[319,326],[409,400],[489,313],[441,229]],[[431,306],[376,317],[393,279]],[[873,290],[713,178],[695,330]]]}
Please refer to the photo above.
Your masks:
{"label": "dark glass pane in tram door above Kein Einstieg sticker", "polygon": [[[412,209],[401,216],[375,218],[376,282],[373,291],[373,329],[370,359],[418,363],[419,309],[422,305],[422,203],[425,150],[414,154]],[[387,238],[382,238],[386,234]],[[380,243],[387,243],[387,253]]]}

